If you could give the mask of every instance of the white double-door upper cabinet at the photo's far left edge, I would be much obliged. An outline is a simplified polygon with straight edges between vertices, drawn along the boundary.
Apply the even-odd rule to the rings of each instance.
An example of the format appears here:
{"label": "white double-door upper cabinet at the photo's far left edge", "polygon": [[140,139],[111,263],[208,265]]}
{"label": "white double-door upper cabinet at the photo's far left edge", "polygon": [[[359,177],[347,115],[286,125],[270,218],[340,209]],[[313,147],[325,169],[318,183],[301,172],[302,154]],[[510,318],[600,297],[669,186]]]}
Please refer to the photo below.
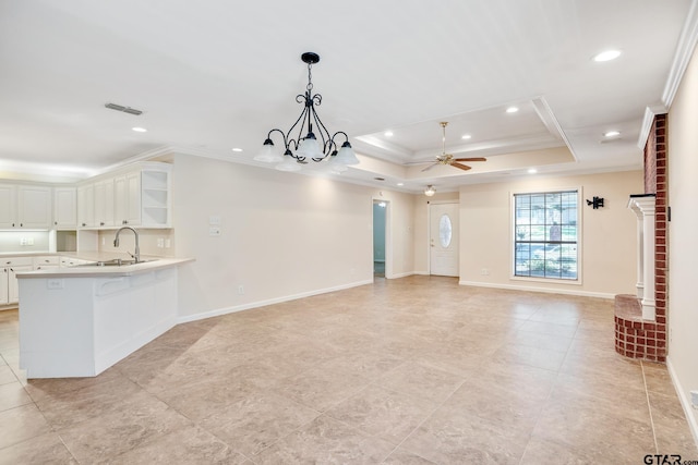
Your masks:
{"label": "white double-door upper cabinet at the photo's far left edge", "polygon": [[0,184],[0,229],[50,229],[51,192],[45,185]]}

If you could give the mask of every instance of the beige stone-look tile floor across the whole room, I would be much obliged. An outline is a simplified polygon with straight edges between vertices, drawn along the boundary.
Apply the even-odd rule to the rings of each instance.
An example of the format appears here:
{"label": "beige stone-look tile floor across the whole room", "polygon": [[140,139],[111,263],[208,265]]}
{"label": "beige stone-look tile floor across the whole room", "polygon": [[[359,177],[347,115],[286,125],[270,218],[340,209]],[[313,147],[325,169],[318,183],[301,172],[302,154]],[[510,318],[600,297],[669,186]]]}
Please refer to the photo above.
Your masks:
{"label": "beige stone-look tile floor across the whole room", "polygon": [[605,299],[377,280],[28,382],[9,310],[0,354],[0,464],[698,460],[666,368],[614,352]]}

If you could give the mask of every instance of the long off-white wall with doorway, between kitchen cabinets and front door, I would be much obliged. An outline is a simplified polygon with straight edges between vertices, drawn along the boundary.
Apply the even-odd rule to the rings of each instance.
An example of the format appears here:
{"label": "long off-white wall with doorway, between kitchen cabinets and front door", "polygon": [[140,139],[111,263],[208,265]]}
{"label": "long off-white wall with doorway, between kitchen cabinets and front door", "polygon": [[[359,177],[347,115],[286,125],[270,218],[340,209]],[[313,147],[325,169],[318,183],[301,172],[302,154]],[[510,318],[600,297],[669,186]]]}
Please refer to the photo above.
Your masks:
{"label": "long off-white wall with doorway, between kitchen cabinets and front door", "polygon": [[[196,259],[180,269],[180,316],[194,319],[372,282],[374,198],[388,201],[396,252],[386,268],[409,273],[411,195],[177,155],[176,256]],[[220,236],[209,235],[212,216],[220,217]]]}

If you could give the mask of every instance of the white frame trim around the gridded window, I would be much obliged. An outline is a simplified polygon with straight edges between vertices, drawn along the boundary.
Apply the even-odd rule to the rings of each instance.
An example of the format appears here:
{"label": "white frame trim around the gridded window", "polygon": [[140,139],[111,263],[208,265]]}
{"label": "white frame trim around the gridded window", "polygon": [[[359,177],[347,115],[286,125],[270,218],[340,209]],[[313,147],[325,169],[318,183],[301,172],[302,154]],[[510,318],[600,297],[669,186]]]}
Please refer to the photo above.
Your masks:
{"label": "white frame trim around the gridded window", "polygon": [[[577,191],[577,279],[556,279],[544,277],[521,277],[516,276],[516,196],[520,194],[553,194],[559,192]],[[509,192],[509,279],[513,281],[529,281],[529,282],[544,282],[550,284],[582,284],[582,271],[583,271],[583,249],[582,249],[582,231],[583,231],[583,210],[582,210],[583,192],[581,186],[566,186],[566,187],[543,187],[543,188],[530,188],[526,191],[512,191]]]}

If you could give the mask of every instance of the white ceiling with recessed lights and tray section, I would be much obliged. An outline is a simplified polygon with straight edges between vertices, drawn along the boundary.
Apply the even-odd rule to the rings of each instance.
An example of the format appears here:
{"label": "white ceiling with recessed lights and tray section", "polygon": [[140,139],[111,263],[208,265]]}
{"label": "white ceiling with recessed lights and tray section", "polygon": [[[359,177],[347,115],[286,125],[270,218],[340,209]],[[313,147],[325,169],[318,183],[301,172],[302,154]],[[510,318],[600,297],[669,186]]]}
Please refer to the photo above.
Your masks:
{"label": "white ceiling with recessed lights and tray section", "polygon": [[[321,56],[320,117],[362,156],[349,181],[418,192],[531,167],[639,169],[646,108],[670,103],[695,3],[0,1],[0,178],[75,180],[172,150],[256,164],[267,132],[300,114],[305,51]],[[591,60],[610,48],[623,54]],[[446,151],[488,162],[422,173],[440,121]]]}

